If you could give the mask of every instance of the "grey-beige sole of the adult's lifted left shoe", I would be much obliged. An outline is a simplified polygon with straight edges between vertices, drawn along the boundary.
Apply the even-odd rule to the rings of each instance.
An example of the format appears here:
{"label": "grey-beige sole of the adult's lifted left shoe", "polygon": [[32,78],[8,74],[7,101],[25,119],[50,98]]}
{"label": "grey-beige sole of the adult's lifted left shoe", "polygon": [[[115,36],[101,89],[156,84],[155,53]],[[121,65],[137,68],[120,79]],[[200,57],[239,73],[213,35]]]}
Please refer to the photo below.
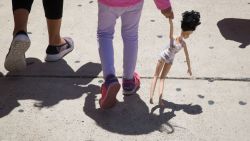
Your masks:
{"label": "grey-beige sole of the adult's lifted left shoe", "polygon": [[30,47],[30,41],[13,41],[6,56],[4,67],[10,72],[22,71],[26,68],[25,52]]}

